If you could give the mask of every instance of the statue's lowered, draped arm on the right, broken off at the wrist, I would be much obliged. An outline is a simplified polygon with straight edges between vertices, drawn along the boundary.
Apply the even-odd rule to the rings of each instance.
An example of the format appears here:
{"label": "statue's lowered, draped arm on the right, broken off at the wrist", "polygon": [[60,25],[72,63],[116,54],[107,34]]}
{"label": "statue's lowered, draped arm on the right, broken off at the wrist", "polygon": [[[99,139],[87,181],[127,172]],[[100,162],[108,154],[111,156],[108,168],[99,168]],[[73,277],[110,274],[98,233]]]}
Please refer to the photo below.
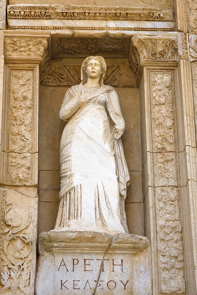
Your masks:
{"label": "statue's lowered, draped arm on the right, broken off at the wrist", "polygon": [[115,89],[110,91],[107,96],[107,112],[114,125],[114,138],[118,140],[123,135],[125,129],[125,122],[120,109],[119,97]]}

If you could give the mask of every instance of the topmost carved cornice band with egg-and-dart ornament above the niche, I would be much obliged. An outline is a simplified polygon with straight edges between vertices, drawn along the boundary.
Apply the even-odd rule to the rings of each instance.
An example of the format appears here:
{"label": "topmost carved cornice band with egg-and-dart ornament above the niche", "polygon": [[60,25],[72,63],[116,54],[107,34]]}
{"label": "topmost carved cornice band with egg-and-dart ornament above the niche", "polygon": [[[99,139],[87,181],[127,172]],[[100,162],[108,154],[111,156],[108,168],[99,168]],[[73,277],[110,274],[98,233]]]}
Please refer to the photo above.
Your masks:
{"label": "topmost carved cornice band with egg-and-dart ornament above the niche", "polygon": [[172,10],[113,6],[8,5],[8,19],[175,21]]}

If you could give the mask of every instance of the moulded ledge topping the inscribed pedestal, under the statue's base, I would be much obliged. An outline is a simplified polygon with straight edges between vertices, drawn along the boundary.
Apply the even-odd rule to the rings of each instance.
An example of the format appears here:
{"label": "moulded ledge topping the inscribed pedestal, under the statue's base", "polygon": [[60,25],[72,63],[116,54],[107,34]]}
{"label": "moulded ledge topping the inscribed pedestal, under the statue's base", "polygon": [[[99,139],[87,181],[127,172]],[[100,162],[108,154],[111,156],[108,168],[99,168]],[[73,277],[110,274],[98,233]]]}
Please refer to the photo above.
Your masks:
{"label": "moulded ledge topping the inscribed pedestal, under the statue's base", "polygon": [[100,232],[52,230],[39,235],[39,245],[40,255],[44,252],[80,249],[113,252],[119,248],[124,249],[125,253],[138,253],[149,246],[149,241],[146,237],[121,233],[111,236]]}

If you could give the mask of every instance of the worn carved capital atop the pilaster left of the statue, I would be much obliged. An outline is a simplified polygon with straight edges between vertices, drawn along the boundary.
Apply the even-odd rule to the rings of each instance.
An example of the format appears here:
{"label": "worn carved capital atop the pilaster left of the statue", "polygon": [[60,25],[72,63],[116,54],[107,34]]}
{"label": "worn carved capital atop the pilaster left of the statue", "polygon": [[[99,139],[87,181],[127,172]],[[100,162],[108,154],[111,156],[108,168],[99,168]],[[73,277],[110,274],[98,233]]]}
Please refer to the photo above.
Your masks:
{"label": "worn carved capital atop the pilaster left of the statue", "polygon": [[31,30],[21,32],[5,31],[4,33],[4,55],[7,59],[26,59],[31,63],[45,64],[50,58],[50,33],[39,32],[35,34]]}

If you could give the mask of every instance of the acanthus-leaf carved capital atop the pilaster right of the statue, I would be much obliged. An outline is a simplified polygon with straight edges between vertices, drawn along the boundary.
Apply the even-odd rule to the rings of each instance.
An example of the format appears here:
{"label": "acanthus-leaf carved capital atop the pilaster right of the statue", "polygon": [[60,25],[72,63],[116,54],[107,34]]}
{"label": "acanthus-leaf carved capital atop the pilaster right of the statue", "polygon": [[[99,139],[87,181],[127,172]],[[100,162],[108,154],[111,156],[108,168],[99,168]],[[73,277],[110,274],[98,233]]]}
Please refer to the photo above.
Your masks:
{"label": "acanthus-leaf carved capital atop the pilaster right of the statue", "polygon": [[129,63],[137,75],[139,85],[144,66],[175,66],[178,62],[176,37],[138,36],[132,37]]}

